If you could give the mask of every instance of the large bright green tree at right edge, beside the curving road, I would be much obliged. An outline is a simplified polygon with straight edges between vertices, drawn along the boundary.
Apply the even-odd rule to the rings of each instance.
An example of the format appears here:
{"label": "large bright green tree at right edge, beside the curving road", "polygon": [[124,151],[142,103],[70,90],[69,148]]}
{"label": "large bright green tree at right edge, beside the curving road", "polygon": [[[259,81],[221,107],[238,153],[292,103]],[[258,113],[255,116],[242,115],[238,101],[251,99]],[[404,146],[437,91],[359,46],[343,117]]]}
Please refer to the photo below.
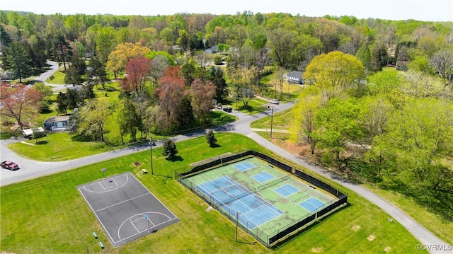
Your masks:
{"label": "large bright green tree at right edge, beside the curving road", "polygon": [[448,100],[411,100],[389,117],[387,131],[373,139],[369,163],[386,186],[423,200],[451,198],[453,110]]}

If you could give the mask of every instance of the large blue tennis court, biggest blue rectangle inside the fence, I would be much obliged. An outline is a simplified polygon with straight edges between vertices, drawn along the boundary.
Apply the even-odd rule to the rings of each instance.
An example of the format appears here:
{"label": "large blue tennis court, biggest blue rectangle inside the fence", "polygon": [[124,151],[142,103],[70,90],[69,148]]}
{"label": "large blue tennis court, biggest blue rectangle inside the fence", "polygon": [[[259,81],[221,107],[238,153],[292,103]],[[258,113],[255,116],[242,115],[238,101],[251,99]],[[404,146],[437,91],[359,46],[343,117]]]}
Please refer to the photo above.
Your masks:
{"label": "large blue tennis court, biggest blue rectangle inside the fence", "polygon": [[248,229],[254,229],[283,214],[273,204],[266,202],[228,176],[195,187],[232,217],[236,217],[236,212],[241,212],[239,221]]}

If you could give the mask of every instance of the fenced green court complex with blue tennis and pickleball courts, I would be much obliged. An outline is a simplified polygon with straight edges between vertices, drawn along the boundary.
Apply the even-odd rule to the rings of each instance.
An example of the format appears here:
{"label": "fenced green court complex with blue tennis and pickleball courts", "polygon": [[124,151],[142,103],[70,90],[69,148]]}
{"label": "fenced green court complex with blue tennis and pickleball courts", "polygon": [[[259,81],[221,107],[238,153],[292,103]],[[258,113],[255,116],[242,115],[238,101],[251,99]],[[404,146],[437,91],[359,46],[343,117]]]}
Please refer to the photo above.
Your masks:
{"label": "fenced green court complex with blue tennis and pickleball courts", "polygon": [[232,221],[237,218],[241,228],[265,246],[339,201],[336,195],[256,156],[185,175],[179,182]]}

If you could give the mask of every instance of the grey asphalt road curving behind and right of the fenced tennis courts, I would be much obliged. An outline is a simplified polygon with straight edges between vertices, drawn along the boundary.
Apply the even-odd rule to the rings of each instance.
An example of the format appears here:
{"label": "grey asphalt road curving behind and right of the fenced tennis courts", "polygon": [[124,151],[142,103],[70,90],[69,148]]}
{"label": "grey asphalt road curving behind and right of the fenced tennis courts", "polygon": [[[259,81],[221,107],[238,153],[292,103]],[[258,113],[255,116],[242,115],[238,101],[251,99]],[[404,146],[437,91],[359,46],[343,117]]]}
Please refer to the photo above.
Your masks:
{"label": "grey asphalt road curving behind and right of the fenced tennis courts", "polygon": [[[50,76],[50,74],[48,74]],[[47,76],[47,77],[48,77]],[[43,78],[40,76],[41,79],[40,81],[44,81],[47,78]],[[285,103],[285,104],[280,104],[280,105],[272,105],[274,107],[274,112],[282,111],[282,110],[287,110],[288,108],[291,108],[292,105],[294,105],[294,102],[292,103]],[[309,169],[310,171],[314,171],[318,173],[319,175],[323,175],[326,178],[329,178],[333,180],[334,182],[343,185],[344,187],[347,187],[349,190],[352,190],[353,192],[356,192],[358,195],[364,197],[367,199],[369,202],[372,202],[373,204],[376,204],[379,208],[383,209],[385,212],[389,214],[390,217],[392,217],[394,220],[398,221],[401,225],[403,225],[409,232],[415,236],[415,238],[420,241],[423,245],[425,245],[427,248],[444,248],[449,250],[431,250],[430,253],[449,253],[452,254],[453,250],[451,250],[452,246],[449,244],[445,243],[445,241],[442,241],[440,238],[435,236],[433,233],[425,229],[423,226],[418,224],[416,221],[414,221],[411,217],[409,217],[407,214],[402,212],[400,209],[395,207],[393,204],[390,202],[387,202],[384,200],[382,197],[379,197],[377,194],[372,192],[371,190],[368,190],[365,187],[362,187],[360,185],[357,185],[355,183],[351,183],[348,180],[345,180],[343,178],[340,178],[338,175],[335,175],[331,173],[330,171],[326,171],[325,169],[319,167],[319,166],[314,166],[309,163],[306,163],[306,161],[302,160],[301,158],[298,158],[297,156],[294,156],[293,154],[289,153],[285,149],[280,148],[279,146],[276,146],[272,142],[269,142],[267,139],[264,139],[261,137],[259,134],[256,134],[253,132],[250,128],[250,123],[253,122],[254,120],[258,120],[262,117],[265,117],[269,115],[270,112],[262,112],[258,115],[247,115],[242,112],[236,112],[233,111],[231,112],[231,115],[236,115],[236,117],[239,118],[236,122],[223,125],[220,127],[216,127],[214,130],[216,132],[236,132],[239,134],[246,135],[247,137],[250,137],[251,139],[255,140],[258,142],[258,144],[266,147],[270,151],[273,151],[275,154],[279,154],[282,157],[287,158],[288,160],[294,162],[295,164],[298,164],[299,166],[302,166],[304,168]],[[176,137],[173,137],[172,140],[174,142],[180,142],[186,139],[191,139],[193,137],[199,137],[200,135],[204,135],[207,130],[200,130],[197,132],[192,132],[190,134],[183,134],[183,135],[178,135]],[[13,151],[8,149],[7,144],[10,144],[11,142],[18,142],[17,140],[13,139],[8,139],[8,140],[1,140],[0,141],[0,160],[1,161],[6,161],[6,160],[11,160],[15,161],[18,163],[19,166],[21,166],[21,169],[18,171],[8,171],[5,169],[1,169],[1,174],[0,174],[0,187],[4,185],[9,185],[11,183],[18,183],[21,181],[25,180],[30,180],[33,178],[38,178],[42,175],[52,175],[54,173],[58,173],[61,171],[69,171],[73,168],[78,168],[80,166],[86,166],[95,162],[99,161],[106,161],[111,158],[117,158],[120,156],[125,156],[128,154],[133,154],[137,153],[138,151],[144,151],[149,149],[149,146],[147,144],[143,144],[141,146],[132,146],[126,149],[120,149],[116,151],[110,151],[106,152],[103,154],[96,154],[93,156],[87,156],[84,158],[77,158],[74,160],[69,160],[69,161],[59,161],[59,162],[41,162],[41,161],[32,161],[27,158],[23,158],[21,156],[18,156],[15,154]],[[157,146],[161,146],[161,142],[156,142]],[[414,246],[414,253],[416,248]]]}

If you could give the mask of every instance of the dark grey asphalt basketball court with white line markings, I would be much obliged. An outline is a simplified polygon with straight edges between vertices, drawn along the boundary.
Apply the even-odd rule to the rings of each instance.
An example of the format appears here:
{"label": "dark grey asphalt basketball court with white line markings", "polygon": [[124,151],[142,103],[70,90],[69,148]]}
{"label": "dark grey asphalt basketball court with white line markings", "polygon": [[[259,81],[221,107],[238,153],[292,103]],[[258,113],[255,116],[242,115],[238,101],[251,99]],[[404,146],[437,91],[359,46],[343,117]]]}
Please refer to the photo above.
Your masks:
{"label": "dark grey asphalt basketball court with white line markings", "polygon": [[129,172],[77,189],[115,248],[179,221]]}

